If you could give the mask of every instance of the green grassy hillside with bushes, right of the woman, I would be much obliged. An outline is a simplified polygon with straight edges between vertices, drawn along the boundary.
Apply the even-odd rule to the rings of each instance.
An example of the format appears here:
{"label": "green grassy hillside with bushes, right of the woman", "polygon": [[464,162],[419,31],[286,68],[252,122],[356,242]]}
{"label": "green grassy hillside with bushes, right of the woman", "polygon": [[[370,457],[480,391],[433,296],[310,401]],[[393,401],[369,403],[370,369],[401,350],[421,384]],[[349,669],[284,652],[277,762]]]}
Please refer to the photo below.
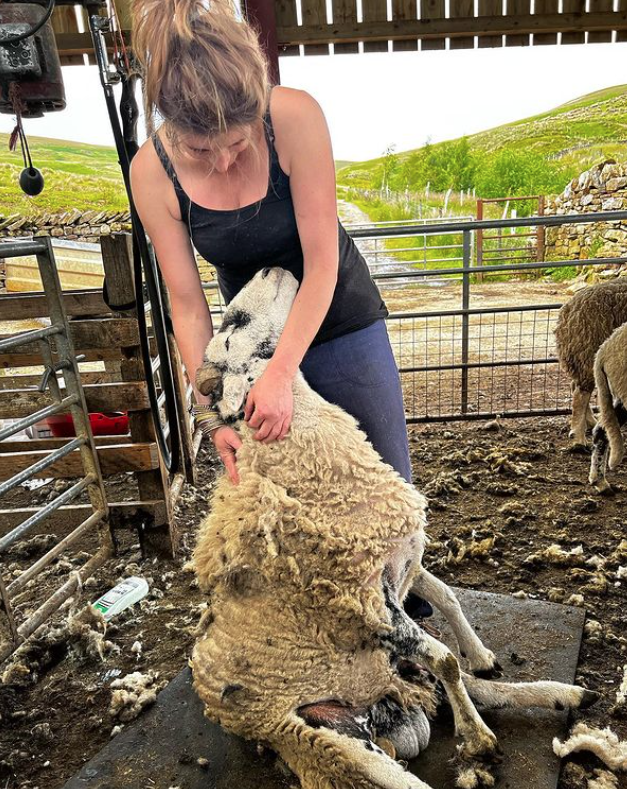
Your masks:
{"label": "green grassy hillside with bushes, right of the woman", "polygon": [[627,85],[470,137],[356,162],[338,182],[392,190],[476,189],[482,197],[555,193],[593,164],[627,159]]}

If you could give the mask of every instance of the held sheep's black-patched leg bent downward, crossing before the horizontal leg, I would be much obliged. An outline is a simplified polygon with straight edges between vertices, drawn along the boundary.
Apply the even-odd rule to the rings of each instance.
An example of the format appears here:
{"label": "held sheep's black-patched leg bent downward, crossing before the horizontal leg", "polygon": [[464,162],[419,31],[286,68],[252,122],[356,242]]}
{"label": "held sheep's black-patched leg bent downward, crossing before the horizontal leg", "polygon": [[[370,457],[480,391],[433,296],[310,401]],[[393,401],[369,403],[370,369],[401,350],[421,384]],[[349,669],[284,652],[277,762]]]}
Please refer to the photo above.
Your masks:
{"label": "held sheep's black-patched leg bent downward, crossing before the horizontal leg", "polygon": [[491,756],[497,751],[496,737],[481,717],[464,687],[457,658],[450,649],[425,633],[398,603],[389,579],[383,577],[383,592],[390,614],[392,631],[381,634],[381,643],[393,655],[415,660],[442,682],[453,709],[455,731],[464,739],[465,758]]}

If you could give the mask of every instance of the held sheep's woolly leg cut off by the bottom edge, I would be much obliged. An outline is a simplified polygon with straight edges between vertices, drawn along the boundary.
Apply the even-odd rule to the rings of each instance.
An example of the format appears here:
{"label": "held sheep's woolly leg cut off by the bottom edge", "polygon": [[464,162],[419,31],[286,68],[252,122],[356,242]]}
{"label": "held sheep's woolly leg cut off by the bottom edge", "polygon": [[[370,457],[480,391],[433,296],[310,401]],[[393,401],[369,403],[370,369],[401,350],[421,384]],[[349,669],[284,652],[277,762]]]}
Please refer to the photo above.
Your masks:
{"label": "held sheep's woolly leg cut off by the bottom edge", "polygon": [[316,713],[308,722],[299,714],[291,715],[271,739],[272,747],[300,779],[301,789],[431,789],[369,737],[347,736],[328,720],[320,725],[318,717]]}

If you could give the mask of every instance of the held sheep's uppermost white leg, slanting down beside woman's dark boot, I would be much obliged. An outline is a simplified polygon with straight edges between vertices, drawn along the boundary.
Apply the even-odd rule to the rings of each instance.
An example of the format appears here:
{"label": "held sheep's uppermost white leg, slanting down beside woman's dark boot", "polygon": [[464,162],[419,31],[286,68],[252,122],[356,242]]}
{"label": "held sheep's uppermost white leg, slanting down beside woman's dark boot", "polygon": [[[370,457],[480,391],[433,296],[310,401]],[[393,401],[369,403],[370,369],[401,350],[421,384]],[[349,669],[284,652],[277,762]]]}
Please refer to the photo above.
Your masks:
{"label": "held sheep's uppermost white leg, slanting down beside woman's dark boot", "polygon": [[501,667],[494,653],[481,643],[466,619],[459,600],[443,581],[421,568],[413,579],[412,591],[422,595],[444,614],[455,634],[460,654],[468,659],[473,674],[478,677],[501,675]]}

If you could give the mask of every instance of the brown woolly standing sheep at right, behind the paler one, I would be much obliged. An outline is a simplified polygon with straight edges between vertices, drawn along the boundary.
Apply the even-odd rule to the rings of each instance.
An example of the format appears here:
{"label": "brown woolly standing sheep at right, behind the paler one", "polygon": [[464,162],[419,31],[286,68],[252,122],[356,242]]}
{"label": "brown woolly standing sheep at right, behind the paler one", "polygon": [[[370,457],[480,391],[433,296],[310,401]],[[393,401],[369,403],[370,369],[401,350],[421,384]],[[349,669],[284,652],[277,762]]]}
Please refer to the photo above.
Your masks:
{"label": "brown woolly standing sheep at right, behind the paler one", "polygon": [[573,410],[570,436],[584,446],[594,427],[590,408],[594,391],[594,356],[614,329],[627,321],[627,282],[602,282],[578,291],[560,309],[555,327],[557,356],[571,377]]}

